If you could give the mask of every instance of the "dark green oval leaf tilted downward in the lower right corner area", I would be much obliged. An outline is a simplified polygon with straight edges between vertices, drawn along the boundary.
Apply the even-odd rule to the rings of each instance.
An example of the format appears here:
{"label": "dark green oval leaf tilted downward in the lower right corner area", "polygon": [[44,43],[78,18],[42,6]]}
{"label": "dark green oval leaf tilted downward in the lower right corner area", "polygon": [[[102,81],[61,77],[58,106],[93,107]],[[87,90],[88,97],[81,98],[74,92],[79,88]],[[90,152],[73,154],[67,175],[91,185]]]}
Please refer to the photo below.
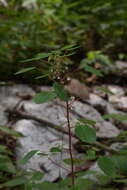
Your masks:
{"label": "dark green oval leaf tilted downward in the lower right corner area", "polygon": [[110,177],[116,176],[116,167],[111,158],[106,156],[100,157],[98,159],[98,165],[106,175]]}

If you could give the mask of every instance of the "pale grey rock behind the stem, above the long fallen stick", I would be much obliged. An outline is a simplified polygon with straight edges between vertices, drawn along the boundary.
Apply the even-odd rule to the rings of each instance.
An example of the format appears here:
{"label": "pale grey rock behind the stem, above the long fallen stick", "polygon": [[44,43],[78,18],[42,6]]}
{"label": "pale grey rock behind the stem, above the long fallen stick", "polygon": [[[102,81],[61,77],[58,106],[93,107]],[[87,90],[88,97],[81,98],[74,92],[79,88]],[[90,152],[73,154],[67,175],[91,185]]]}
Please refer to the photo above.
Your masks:
{"label": "pale grey rock behind the stem, above the long fallen stick", "polygon": [[[52,121],[56,125],[66,127],[66,110],[56,102],[49,102],[45,104],[34,104],[33,102],[25,102],[25,110],[32,115]],[[44,110],[44,111],[43,111]],[[74,112],[75,113],[74,113]],[[77,115],[76,115],[77,113]],[[97,112],[90,105],[74,101],[72,104],[72,112],[70,113],[71,125],[74,127],[79,117],[87,118],[96,121],[97,135],[99,137],[115,137],[119,134],[119,130],[110,122],[102,119],[99,112]],[[102,127],[103,126],[103,127]]]}

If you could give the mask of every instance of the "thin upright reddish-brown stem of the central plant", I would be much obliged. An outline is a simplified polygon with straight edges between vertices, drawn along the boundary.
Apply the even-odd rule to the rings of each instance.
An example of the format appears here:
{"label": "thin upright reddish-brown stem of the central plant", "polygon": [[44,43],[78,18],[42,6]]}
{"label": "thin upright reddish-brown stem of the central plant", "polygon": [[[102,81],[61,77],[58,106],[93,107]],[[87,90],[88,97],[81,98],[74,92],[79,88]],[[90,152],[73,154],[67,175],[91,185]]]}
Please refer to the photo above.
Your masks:
{"label": "thin upright reddish-brown stem of the central plant", "polygon": [[75,174],[74,174],[74,160],[72,155],[72,135],[71,135],[71,125],[70,125],[70,114],[69,114],[69,103],[66,102],[66,110],[67,110],[67,127],[68,127],[68,137],[69,137],[69,154],[71,160],[71,178],[72,178],[72,186],[75,185]]}

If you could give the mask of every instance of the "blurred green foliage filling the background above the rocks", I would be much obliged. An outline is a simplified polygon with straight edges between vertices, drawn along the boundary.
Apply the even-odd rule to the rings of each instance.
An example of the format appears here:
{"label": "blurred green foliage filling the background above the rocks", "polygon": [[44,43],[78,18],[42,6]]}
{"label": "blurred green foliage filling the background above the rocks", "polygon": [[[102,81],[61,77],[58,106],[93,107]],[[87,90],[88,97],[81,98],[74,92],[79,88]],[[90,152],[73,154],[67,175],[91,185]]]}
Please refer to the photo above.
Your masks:
{"label": "blurred green foliage filling the background above the rocks", "polygon": [[[126,0],[36,0],[35,9],[22,3],[9,0],[8,7],[0,7],[0,80],[13,80],[26,65],[21,60],[68,44],[80,45],[70,57],[74,64],[91,50],[114,59],[127,51]],[[19,79],[31,82],[33,75]]]}

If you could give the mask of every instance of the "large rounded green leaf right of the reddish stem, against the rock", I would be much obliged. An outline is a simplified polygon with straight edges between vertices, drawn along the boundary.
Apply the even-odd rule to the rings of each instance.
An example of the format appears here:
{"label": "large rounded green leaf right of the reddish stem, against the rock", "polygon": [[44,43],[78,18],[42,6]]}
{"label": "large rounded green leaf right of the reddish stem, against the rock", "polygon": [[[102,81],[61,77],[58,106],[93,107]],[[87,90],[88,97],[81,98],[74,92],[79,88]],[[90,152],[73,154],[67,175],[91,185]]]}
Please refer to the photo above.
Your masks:
{"label": "large rounded green leaf right of the reddish stem, against the rock", "polygon": [[87,125],[77,125],[75,134],[83,142],[94,143],[96,141],[96,130]]}

